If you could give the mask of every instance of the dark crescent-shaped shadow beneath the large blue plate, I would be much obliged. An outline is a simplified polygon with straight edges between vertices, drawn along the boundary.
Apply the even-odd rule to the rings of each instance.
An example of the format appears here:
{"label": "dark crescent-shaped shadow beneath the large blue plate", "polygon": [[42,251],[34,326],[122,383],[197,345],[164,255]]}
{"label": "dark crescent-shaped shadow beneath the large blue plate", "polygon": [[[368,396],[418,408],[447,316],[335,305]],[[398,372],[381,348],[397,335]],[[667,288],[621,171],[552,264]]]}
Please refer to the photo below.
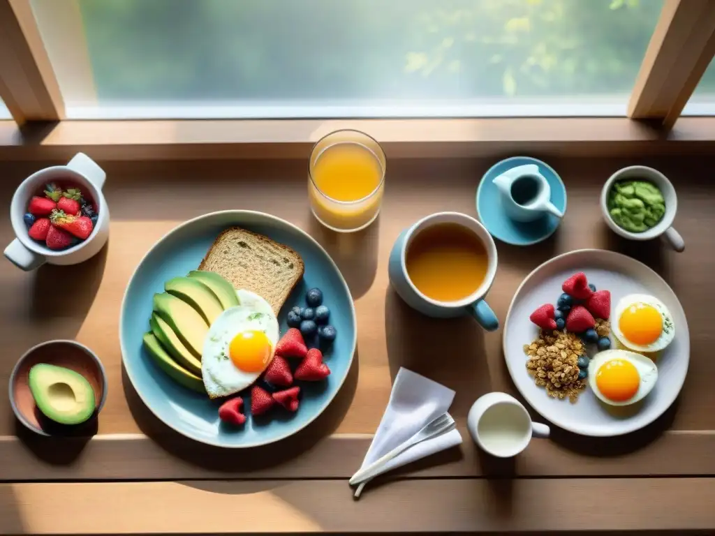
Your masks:
{"label": "dark crescent-shaped shadow beneath the large blue plate", "polygon": [[335,399],[310,425],[285,440],[262,447],[242,449],[240,452],[204,445],[190,440],[164,425],[139,398],[132,382],[127,377],[124,366],[122,366],[122,385],[129,410],[139,429],[154,442],[157,442],[157,445],[167,450],[169,454],[212,471],[250,472],[290,463],[295,457],[309,450],[337,429],[350,407],[352,398],[355,396],[355,389],[358,387],[359,361],[356,349],[350,371],[335,395]]}

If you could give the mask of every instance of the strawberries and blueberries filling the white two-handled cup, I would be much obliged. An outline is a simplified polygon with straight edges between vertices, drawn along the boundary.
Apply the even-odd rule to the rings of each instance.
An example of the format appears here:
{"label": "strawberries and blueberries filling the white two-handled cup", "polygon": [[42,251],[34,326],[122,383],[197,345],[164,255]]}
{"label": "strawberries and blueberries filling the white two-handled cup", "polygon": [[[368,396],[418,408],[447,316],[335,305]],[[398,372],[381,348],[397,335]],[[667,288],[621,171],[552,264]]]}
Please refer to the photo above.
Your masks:
{"label": "strawberries and blueberries filling the white two-handled cup", "polygon": [[31,197],[23,221],[31,239],[61,250],[89,238],[98,217],[94,203],[82,197],[79,188],[51,183]]}

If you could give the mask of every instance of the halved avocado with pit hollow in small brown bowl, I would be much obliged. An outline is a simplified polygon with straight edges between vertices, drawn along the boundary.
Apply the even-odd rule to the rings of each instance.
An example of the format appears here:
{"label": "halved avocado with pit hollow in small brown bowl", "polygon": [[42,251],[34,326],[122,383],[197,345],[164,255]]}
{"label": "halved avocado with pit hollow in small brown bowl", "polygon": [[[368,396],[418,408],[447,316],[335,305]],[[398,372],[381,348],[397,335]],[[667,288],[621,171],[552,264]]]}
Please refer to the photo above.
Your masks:
{"label": "halved avocado with pit hollow in small brown bowl", "polygon": [[79,425],[94,413],[94,389],[87,379],[64,367],[38,363],[28,384],[39,410],[61,425]]}

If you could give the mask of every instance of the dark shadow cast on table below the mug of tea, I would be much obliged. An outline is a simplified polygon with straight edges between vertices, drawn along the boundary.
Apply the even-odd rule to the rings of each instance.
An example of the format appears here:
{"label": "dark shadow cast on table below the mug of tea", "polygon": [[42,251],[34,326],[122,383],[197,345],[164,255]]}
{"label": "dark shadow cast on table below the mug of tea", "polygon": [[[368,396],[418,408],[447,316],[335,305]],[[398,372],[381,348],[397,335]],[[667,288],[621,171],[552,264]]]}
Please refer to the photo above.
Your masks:
{"label": "dark shadow cast on table below the mug of tea", "polygon": [[458,422],[464,422],[475,399],[491,390],[484,330],[472,317],[426,317],[388,287],[385,335],[392,381],[405,367],[454,389],[450,413]]}

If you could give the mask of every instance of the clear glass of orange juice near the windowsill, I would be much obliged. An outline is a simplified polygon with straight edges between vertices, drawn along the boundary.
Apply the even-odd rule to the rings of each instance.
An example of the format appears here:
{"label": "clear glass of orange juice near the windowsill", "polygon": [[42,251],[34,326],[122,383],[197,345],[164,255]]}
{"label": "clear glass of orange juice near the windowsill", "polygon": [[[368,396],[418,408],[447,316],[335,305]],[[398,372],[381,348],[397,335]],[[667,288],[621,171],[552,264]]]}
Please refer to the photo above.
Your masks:
{"label": "clear glass of orange juice near the windowsill", "polygon": [[385,153],[368,134],[336,130],[312,149],[308,164],[310,209],[337,232],[365,229],[380,213]]}

